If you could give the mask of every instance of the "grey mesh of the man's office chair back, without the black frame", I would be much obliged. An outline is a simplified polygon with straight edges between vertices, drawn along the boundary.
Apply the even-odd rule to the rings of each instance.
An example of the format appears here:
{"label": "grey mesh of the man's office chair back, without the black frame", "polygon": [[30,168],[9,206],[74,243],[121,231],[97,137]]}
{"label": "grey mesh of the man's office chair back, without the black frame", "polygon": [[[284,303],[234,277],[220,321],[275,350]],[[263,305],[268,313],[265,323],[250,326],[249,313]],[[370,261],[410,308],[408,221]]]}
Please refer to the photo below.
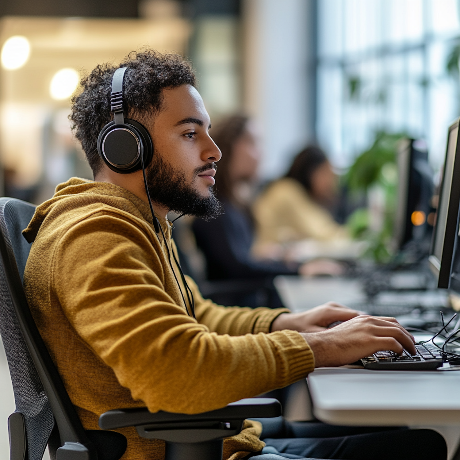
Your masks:
{"label": "grey mesh of the man's office chair back, without the black frame", "polygon": [[[0,198],[0,227],[6,246],[13,251],[11,277],[14,288],[22,290],[22,279],[30,244],[21,230],[29,224],[35,207],[24,201]],[[16,266],[17,270],[14,270]],[[54,419],[45,390],[24,340],[11,298],[11,286],[5,275],[6,264],[0,264],[0,334],[5,346],[16,403],[15,412],[23,414],[29,460],[41,460],[51,434]]]}

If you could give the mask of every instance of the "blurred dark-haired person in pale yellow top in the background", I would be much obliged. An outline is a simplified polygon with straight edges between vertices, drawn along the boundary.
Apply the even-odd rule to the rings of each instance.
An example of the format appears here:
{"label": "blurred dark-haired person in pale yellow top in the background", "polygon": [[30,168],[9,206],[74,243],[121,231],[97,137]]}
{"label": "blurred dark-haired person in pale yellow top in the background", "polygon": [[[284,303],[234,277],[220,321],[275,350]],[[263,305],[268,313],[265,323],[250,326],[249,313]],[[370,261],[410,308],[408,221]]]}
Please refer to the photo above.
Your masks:
{"label": "blurred dark-haired person in pale yellow top in the background", "polygon": [[255,253],[270,256],[279,245],[305,239],[349,239],[345,227],[335,222],[329,211],[337,186],[337,176],[324,152],[315,146],[302,150],[286,176],[270,184],[254,203]]}

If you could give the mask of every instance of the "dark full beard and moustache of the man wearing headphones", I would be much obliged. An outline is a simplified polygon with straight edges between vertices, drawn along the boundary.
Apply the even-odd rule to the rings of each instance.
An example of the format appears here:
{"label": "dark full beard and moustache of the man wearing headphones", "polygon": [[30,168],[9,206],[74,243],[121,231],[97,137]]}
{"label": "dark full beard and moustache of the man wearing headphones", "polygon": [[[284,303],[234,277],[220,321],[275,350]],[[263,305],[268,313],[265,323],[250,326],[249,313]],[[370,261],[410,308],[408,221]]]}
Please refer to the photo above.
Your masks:
{"label": "dark full beard and moustache of the man wearing headphones", "polygon": [[[214,163],[208,163],[196,168],[193,172],[193,181],[198,174],[208,169],[217,169],[217,167]],[[210,196],[201,196],[190,184],[187,184],[184,171],[174,170],[158,155],[153,155],[145,174],[152,201],[167,207],[169,211],[204,220],[215,219],[224,213],[224,207],[214,195],[212,186],[209,187]]]}

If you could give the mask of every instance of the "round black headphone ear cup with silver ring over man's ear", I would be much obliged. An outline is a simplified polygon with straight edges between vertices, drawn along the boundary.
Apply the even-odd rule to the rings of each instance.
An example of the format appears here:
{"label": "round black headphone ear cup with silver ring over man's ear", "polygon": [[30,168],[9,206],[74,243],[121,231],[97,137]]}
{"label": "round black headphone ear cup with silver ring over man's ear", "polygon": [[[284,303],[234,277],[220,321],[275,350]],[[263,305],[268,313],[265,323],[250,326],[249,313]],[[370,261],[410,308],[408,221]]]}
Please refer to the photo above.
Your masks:
{"label": "round black headphone ear cup with silver ring over man's ear", "polygon": [[102,161],[116,173],[130,174],[152,161],[153,144],[149,132],[137,121],[125,120],[115,125],[111,121],[98,136],[98,154]]}

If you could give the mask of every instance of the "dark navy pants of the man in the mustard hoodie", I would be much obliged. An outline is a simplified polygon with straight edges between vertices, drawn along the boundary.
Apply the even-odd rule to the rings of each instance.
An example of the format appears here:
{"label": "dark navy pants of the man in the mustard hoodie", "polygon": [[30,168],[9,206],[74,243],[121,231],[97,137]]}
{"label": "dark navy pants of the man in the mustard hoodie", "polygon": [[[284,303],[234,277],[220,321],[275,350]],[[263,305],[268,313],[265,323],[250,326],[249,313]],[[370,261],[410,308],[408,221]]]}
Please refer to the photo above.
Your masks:
{"label": "dark navy pants of the man in the mustard hoodie", "polygon": [[[446,460],[444,438],[432,430],[405,427],[334,426],[318,421],[288,422],[282,417],[262,423],[267,446],[253,460]],[[278,457],[280,455],[280,457]]]}

